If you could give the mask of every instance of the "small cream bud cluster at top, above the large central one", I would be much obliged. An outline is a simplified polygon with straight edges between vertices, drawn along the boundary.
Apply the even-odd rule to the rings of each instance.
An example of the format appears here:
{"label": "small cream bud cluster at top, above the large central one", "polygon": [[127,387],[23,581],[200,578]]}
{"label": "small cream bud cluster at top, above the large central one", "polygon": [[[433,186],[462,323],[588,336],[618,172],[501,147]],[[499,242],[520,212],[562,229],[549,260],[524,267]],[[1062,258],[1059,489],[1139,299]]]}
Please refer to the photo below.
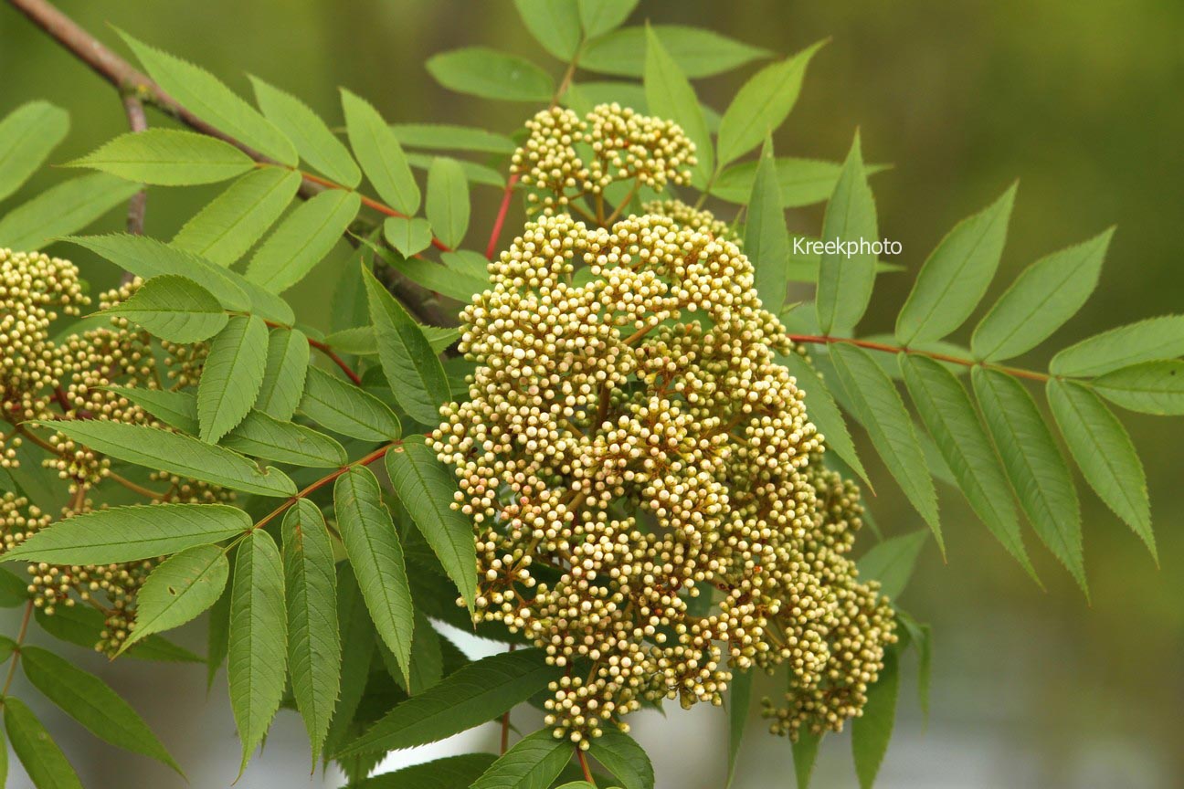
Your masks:
{"label": "small cream bud cluster at top, above the large central one", "polygon": [[[590,198],[603,205],[612,183],[662,190],[689,183],[695,145],[673,121],[639,115],[619,104],[601,104],[584,118],[552,108],[527,121],[530,136],[514,153],[510,172],[532,187],[533,211],[552,214]],[[628,202],[628,200],[626,200]]]}

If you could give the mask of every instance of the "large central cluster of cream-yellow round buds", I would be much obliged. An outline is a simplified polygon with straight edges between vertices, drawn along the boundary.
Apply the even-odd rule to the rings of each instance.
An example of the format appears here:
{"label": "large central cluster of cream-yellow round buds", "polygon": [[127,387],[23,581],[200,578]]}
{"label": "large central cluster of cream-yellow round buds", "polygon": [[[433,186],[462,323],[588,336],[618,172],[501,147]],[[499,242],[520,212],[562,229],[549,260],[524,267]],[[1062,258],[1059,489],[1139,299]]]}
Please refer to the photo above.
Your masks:
{"label": "large central cluster of cream-yellow round buds", "polygon": [[[584,134],[552,111],[532,141],[545,123]],[[565,670],[547,720],[581,746],[643,703],[719,704],[734,670],[779,665],[773,730],[838,729],[895,640],[847,556],[857,490],[822,465],[777,362],[789,338],[726,226],[648,209],[528,224],[462,313],[477,368],[431,441],[475,524],[476,617]]]}

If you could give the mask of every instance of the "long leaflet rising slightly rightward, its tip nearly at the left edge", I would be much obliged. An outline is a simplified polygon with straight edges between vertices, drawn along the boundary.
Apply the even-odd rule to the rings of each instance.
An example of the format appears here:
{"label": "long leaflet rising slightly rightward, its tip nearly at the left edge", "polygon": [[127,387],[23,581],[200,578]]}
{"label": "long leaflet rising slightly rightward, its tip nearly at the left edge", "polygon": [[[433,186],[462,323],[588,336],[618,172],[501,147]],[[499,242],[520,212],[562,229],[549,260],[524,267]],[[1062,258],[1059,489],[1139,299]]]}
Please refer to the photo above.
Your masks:
{"label": "long leaflet rising slightly rightward, its tip nearly at the left edge", "polygon": [[96,510],[39,529],[4,554],[6,562],[115,564],[208,545],[251,528],[225,504],[153,504]]}

